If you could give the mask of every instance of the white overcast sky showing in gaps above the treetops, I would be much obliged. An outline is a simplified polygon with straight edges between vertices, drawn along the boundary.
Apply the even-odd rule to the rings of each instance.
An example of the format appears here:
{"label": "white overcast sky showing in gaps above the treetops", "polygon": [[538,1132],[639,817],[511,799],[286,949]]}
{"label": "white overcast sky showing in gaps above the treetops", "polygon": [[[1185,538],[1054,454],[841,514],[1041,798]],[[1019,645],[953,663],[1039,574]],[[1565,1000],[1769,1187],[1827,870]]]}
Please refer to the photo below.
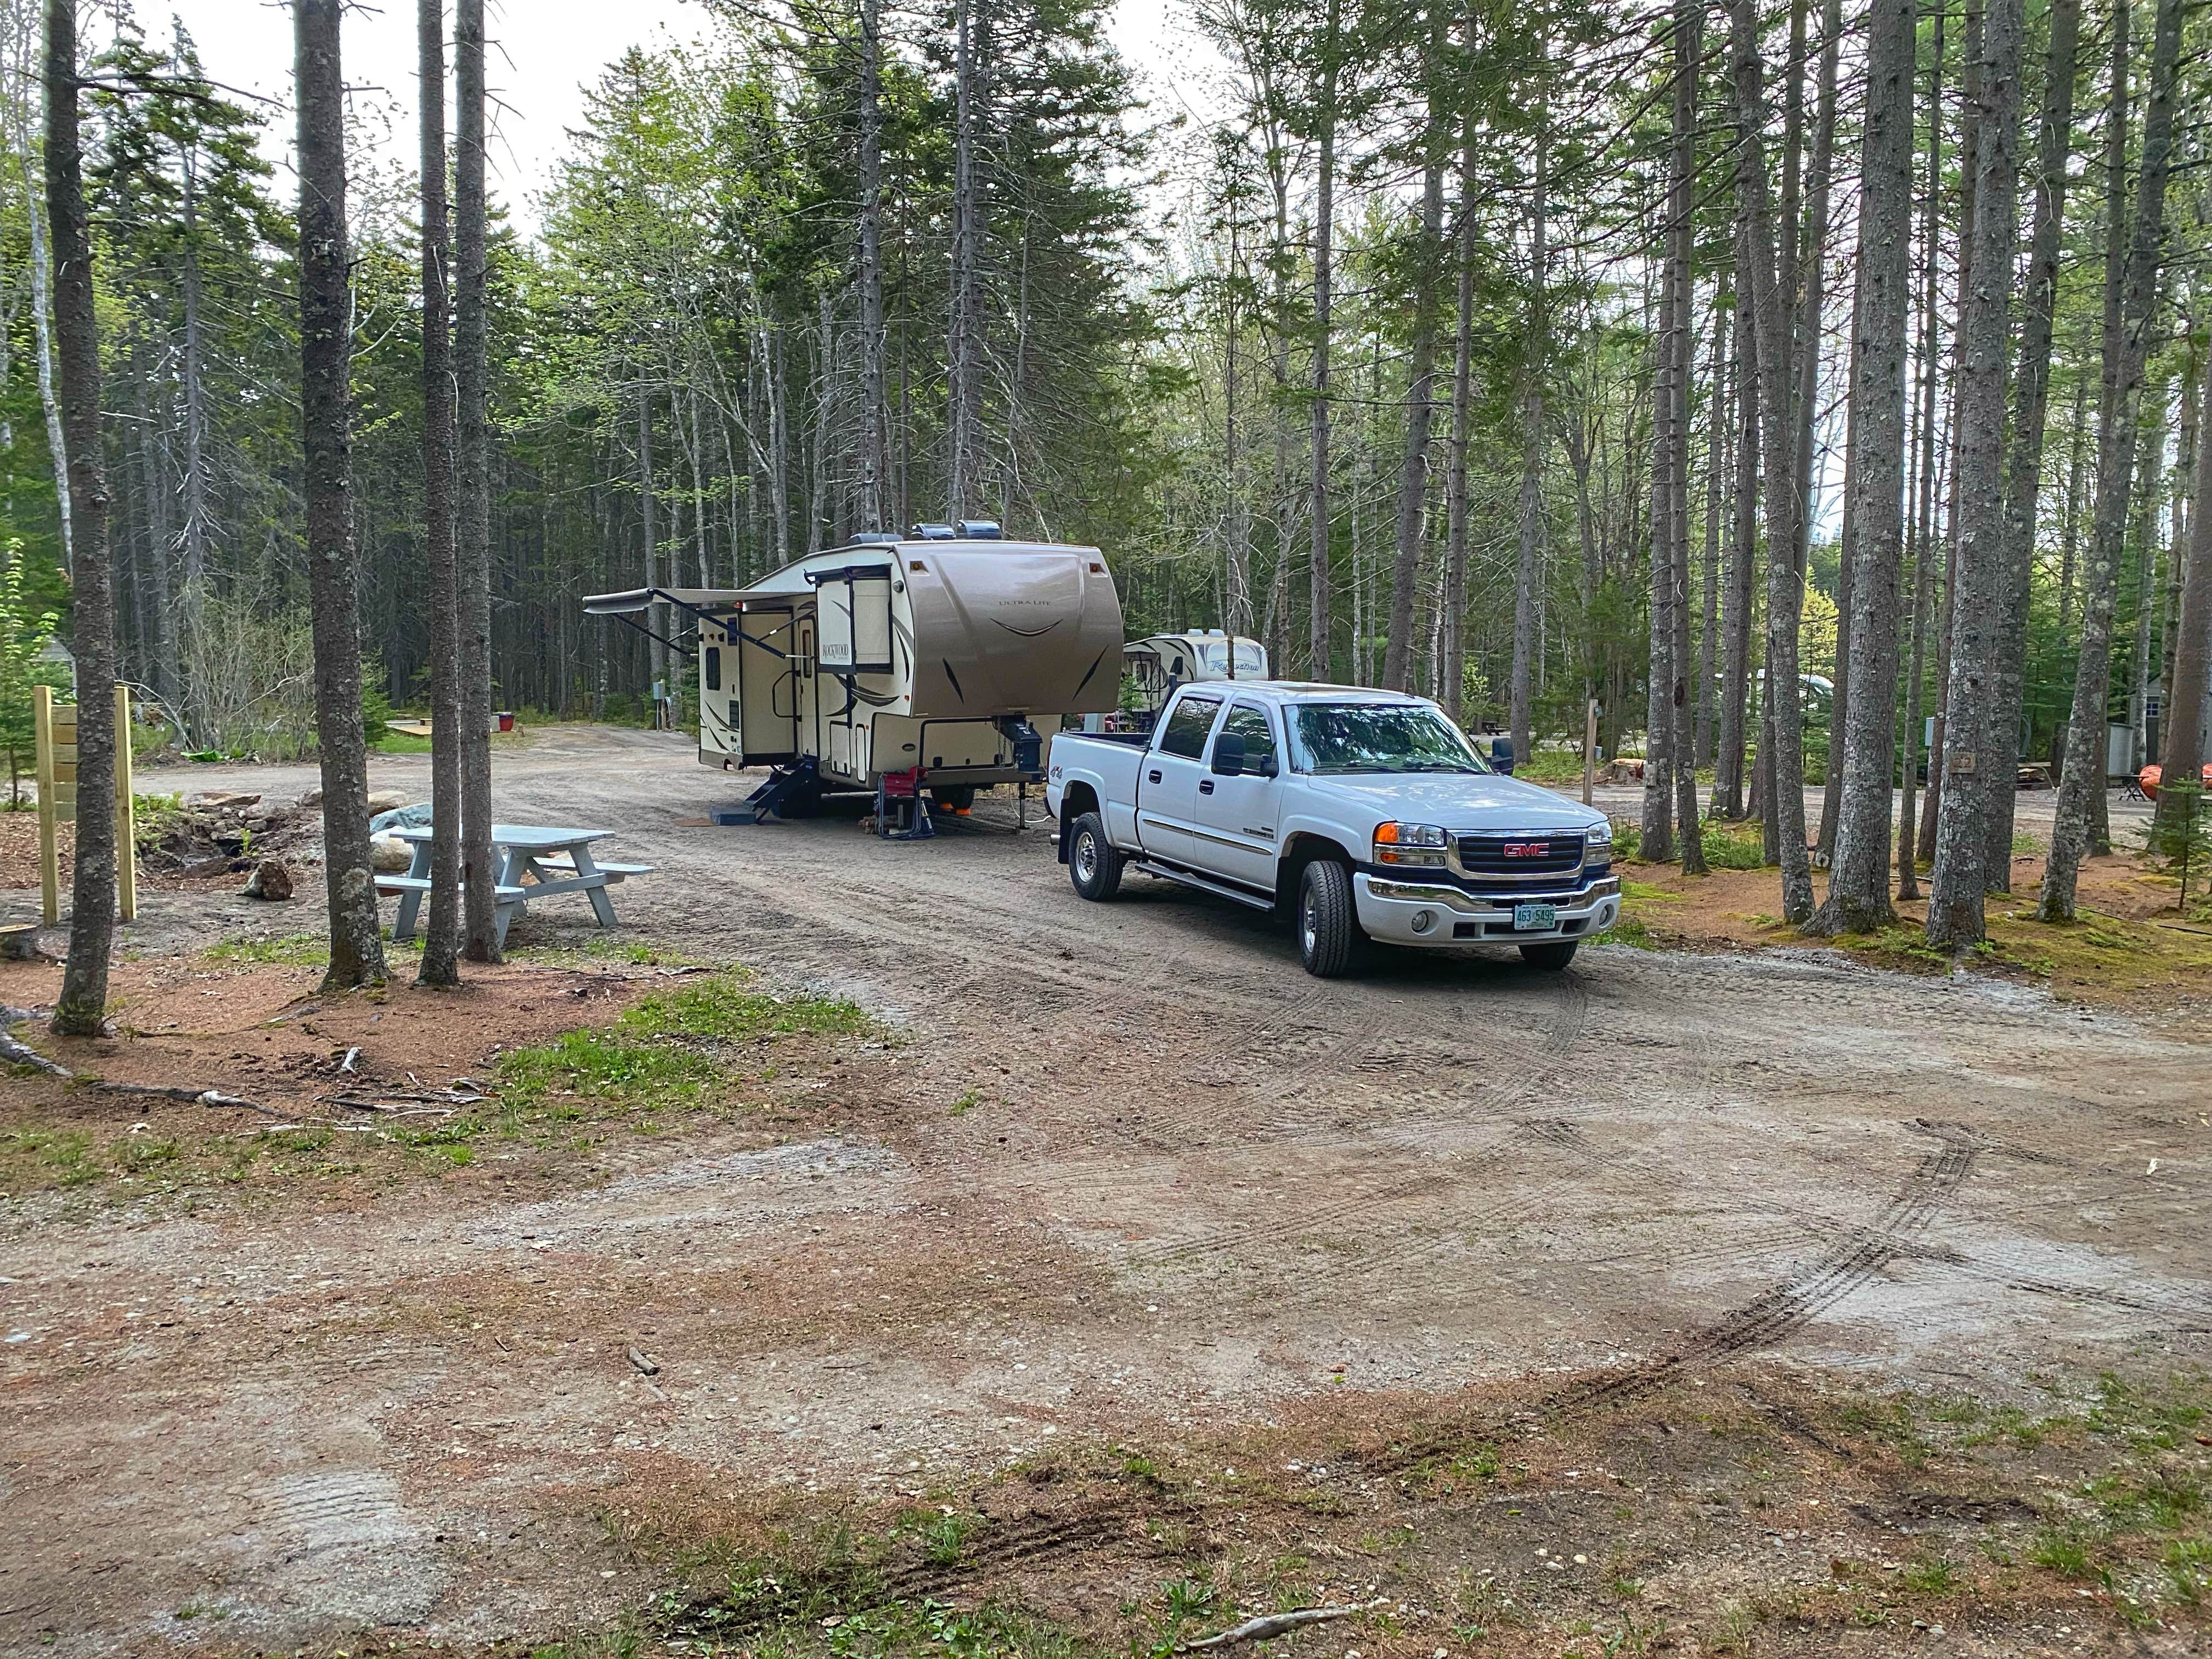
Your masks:
{"label": "white overcast sky showing in gaps above the treetops", "polygon": [[[270,159],[290,188],[292,13],[274,0],[142,0],[150,38],[179,18],[199,44],[206,73],[274,100]],[[369,0],[345,13],[345,80],[361,113],[380,115],[387,159],[414,164],[416,9],[409,0]],[[493,190],[522,230],[535,230],[533,197],[553,179],[566,133],[584,113],[582,86],[630,46],[666,46],[710,29],[697,0],[487,0],[493,97]],[[1210,49],[1183,18],[1183,0],[1119,0],[1113,42],[1137,69],[1152,119],[1212,108]],[[376,126],[378,122],[372,122]]]}

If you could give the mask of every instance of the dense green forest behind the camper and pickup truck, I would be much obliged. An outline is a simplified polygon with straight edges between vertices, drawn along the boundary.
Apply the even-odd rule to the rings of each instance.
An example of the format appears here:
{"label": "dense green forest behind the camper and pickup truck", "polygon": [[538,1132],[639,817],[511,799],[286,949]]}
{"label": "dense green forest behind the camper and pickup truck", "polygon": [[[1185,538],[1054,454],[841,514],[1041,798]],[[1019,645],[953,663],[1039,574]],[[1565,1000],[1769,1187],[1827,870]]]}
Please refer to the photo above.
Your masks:
{"label": "dense green forest behind the camper and pickup truck", "polygon": [[[18,659],[69,635],[38,11],[0,11]],[[175,24],[93,22],[122,666],[197,748],[294,752],[296,223],[261,142],[288,111]],[[498,701],[635,717],[670,672],[584,593],[982,515],[1106,549],[1133,633],[1254,633],[1279,672],[1433,695],[1522,754],[1595,701],[1604,752],[1652,759],[1646,852],[1694,858],[1710,783],[1703,807],[1767,821],[1792,920],[1794,847],[1849,836],[1860,657],[1907,887],[1944,779],[2059,765],[2077,703],[2154,759],[2203,518],[2201,18],[1201,0],[1190,29],[1232,66],[1208,124],[1146,108],[1088,0],[730,0],[701,42],[611,64],[538,232],[491,239]],[[365,153],[374,712],[425,699],[429,617],[418,181]],[[2011,281],[1975,281],[1975,248]],[[1863,549],[1869,502],[1896,524]],[[1763,708],[1770,661],[1803,732]],[[1975,741],[1947,759],[1953,714]],[[2101,783],[2101,728],[2090,752]],[[1827,785],[1818,823],[1776,765]],[[1960,834],[2008,845],[2004,794]],[[2075,803],[2090,836],[2101,803]]]}

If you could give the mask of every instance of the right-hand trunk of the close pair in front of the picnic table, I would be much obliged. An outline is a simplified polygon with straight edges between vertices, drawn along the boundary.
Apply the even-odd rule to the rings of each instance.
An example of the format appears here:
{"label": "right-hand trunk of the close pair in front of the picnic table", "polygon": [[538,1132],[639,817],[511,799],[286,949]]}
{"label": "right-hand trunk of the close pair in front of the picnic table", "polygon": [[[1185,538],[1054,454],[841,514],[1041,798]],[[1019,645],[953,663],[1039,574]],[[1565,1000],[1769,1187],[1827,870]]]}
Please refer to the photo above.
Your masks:
{"label": "right-hand trunk of the close pair in front of the picnic table", "polygon": [[498,962],[491,860],[491,420],[484,314],[484,0],[453,2],[453,584],[460,593],[460,863],[467,958]]}

